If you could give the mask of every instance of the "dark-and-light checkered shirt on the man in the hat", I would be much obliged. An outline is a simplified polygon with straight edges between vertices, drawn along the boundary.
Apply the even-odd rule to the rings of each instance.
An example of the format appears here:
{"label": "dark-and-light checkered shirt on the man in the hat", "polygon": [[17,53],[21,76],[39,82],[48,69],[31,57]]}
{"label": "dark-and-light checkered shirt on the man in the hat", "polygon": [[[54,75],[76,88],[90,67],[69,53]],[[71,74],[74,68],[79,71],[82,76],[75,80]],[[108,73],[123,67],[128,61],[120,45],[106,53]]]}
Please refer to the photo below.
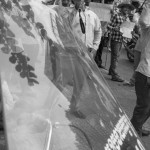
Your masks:
{"label": "dark-and-light checkered shirt on the man in the hat", "polygon": [[115,31],[115,27],[120,27],[120,25],[126,20],[126,17],[122,16],[120,13],[114,13],[111,17],[111,21],[107,28],[110,32],[111,39],[114,41],[122,42],[122,33],[120,31]]}

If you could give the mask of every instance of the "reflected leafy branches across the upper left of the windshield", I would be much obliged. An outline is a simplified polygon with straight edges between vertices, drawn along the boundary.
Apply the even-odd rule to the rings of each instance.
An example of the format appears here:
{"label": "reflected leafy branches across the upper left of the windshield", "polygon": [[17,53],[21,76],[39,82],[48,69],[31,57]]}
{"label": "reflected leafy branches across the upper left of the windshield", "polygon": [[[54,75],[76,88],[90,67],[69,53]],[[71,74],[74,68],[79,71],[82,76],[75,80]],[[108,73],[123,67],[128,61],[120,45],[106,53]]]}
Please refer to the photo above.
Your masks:
{"label": "reflected leafy branches across the upper left of the windshield", "polygon": [[[1,51],[5,54],[10,54],[9,61],[16,64],[16,71],[20,73],[21,78],[27,78],[29,85],[38,84],[36,80],[34,67],[28,64],[30,58],[23,54],[23,48],[17,46],[18,41],[15,39],[15,34],[10,30],[10,25],[5,19],[4,14],[9,15],[17,25],[23,29],[24,33],[32,38],[35,38],[31,32],[31,23],[34,23],[34,13],[30,5],[20,6],[17,0],[0,2],[0,44]],[[31,23],[30,23],[30,22]]]}

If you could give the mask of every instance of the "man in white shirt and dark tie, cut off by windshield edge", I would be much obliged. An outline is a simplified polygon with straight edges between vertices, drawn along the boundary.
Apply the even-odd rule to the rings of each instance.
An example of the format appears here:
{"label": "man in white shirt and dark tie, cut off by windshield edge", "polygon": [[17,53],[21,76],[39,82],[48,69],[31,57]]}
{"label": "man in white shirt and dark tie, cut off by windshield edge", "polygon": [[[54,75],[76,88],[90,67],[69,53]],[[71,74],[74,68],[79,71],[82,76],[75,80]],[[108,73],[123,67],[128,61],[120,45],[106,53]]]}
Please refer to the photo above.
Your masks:
{"label": "man in white shirt and dark tie, cut off by windshield edge", "polygon": [[74,35],[85,43],[94,57],[102,36],[101,23],[98,16],[85,6],[83,0],[74,0],[72,29]]}

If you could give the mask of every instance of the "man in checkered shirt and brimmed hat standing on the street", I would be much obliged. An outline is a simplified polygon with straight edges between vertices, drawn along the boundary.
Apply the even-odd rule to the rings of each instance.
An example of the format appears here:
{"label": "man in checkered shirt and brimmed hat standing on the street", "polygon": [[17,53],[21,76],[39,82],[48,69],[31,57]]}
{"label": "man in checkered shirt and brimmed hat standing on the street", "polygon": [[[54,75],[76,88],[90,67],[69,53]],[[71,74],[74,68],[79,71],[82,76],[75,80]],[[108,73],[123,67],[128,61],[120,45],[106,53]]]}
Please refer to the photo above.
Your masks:
{"label": "man in checkered shirt and brimmed hat standing on the street", "polygon": [[118,75],[116,69],[120,50],[122,46],[122,33],[120,32],[121,24],[127,20],[130,11],[134,10],[134,6],[129,3],[121,3],[118,5],[119,12],[112,15],[111,21],[107,28],[111,36],[111,64],[109,68],[109,75],[112,76],[113,81],[123,82],[124,80]]}

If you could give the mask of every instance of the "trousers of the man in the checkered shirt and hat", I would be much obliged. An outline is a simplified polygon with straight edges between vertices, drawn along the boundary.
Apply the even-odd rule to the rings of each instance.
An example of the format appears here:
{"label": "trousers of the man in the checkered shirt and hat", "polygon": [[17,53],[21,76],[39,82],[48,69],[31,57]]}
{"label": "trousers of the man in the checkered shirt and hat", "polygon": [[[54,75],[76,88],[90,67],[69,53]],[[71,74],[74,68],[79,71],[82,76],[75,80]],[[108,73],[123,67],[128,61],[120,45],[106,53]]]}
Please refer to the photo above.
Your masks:
{"label": "trousers of the man in the checkered shirt and hat", "polygon": [[116,69],[118,66],[118,59],[120,56],[120,51],[122,47],[122,42],[114,41],[111,39],[111,64],[109,71],[111,72],[112,76],[118,75]]}

